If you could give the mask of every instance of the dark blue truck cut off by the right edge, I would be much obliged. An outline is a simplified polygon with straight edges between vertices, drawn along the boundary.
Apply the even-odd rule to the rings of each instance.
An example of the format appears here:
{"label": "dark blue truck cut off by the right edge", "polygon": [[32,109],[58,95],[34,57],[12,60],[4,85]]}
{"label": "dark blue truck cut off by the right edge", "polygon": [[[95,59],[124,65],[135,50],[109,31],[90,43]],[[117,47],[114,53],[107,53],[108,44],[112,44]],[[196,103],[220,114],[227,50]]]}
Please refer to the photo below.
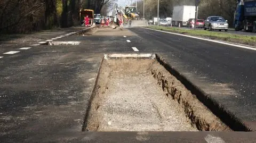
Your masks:
{"label": "dark blue truck cut off by the right edge", "polygon": [[256,1],[237,0],[234,27],[236,31],[256,32]]}

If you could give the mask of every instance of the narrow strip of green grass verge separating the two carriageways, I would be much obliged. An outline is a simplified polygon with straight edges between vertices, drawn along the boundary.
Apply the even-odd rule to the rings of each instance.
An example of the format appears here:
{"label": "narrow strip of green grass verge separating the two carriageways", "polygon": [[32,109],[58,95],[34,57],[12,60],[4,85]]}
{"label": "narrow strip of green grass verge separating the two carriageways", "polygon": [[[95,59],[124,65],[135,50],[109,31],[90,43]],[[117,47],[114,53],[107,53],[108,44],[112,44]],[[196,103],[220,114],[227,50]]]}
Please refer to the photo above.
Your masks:
{"label": "narrow strip of green grass verge separating the two carriageways", "polygon": [[168,32],[182,33],[184,35],[191,35],[209,39],[216,39],[222,41],[228,41],[231,43],[245,44],[256,46],[256,36],[238,35],[233,33],[225,33],[219,31],[206,31],[206,30],[190,30],[181,29],[175,27],[163,27],[163,26],[148,26],[148,28],[155,30],[163,30]]}

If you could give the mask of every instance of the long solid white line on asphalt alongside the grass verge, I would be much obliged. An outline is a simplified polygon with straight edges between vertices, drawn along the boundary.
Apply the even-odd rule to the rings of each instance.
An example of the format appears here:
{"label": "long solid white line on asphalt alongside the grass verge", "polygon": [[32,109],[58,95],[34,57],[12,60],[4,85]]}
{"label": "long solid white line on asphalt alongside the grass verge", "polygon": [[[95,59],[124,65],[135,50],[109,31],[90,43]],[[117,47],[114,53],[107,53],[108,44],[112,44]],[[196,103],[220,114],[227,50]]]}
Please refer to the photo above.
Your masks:
{"label": "long solid white line on asphalt alongside the grass verge", "polygon": [[224,45],[229,45],[229,46],[234,46],[234,47],[239,47],[239,48],[244,48],[244,49],[251,49],[253,51],[256,51],[256,48],[252,48],[252,47],[248,47],[248,46],[242,46],[242,45],[236,45],[236,44],[231,44],[231,43],[226,43],[224,41],[204,39],[204,38],[199,38],[199,37],[194,37],[194,36],[182,35],[182,34],[179,34],[179,33],[173,33],[173,32],[166,32],[166,31],[161,31],[161,30],[150,29],[150,28],[145,28],[145,29],[154,30],[154,31],[158,31],[158,32],[164,32],[164,33],[170,33],[170,34],[173,34],[173,35],[179,35],[179,36],[195,38],[195,39],[200,39],[200,40],[205,40],[205,41],[211,41],[211,42],[214,42],[214,43],[219,43],[219,44],[224,44]]}

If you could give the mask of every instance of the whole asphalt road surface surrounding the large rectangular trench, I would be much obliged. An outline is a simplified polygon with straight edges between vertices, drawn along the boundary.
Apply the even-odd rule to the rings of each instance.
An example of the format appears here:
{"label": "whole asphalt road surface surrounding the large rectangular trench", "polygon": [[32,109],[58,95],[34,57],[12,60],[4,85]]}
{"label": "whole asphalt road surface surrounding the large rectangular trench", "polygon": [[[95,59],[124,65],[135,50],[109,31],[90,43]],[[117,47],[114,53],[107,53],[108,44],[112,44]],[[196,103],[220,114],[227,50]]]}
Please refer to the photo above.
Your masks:
{"label": "whole asphalt road surface surrounding the large rectangular trench", "polygon": [[[54,37],[47,36],[48,39]],[[255,132],[81,132],[103,53],[157,53],[223,107],[253,125],[256,119],[255,51],[144,28],[99,30],[55,41],[81,41],[81,44],[1,48],[3,53],[19,51],[0,53],[1,141],[209,143],[217,140],[223,143],[256,140]],[[134,52],[136,49],[138,52]]]}

